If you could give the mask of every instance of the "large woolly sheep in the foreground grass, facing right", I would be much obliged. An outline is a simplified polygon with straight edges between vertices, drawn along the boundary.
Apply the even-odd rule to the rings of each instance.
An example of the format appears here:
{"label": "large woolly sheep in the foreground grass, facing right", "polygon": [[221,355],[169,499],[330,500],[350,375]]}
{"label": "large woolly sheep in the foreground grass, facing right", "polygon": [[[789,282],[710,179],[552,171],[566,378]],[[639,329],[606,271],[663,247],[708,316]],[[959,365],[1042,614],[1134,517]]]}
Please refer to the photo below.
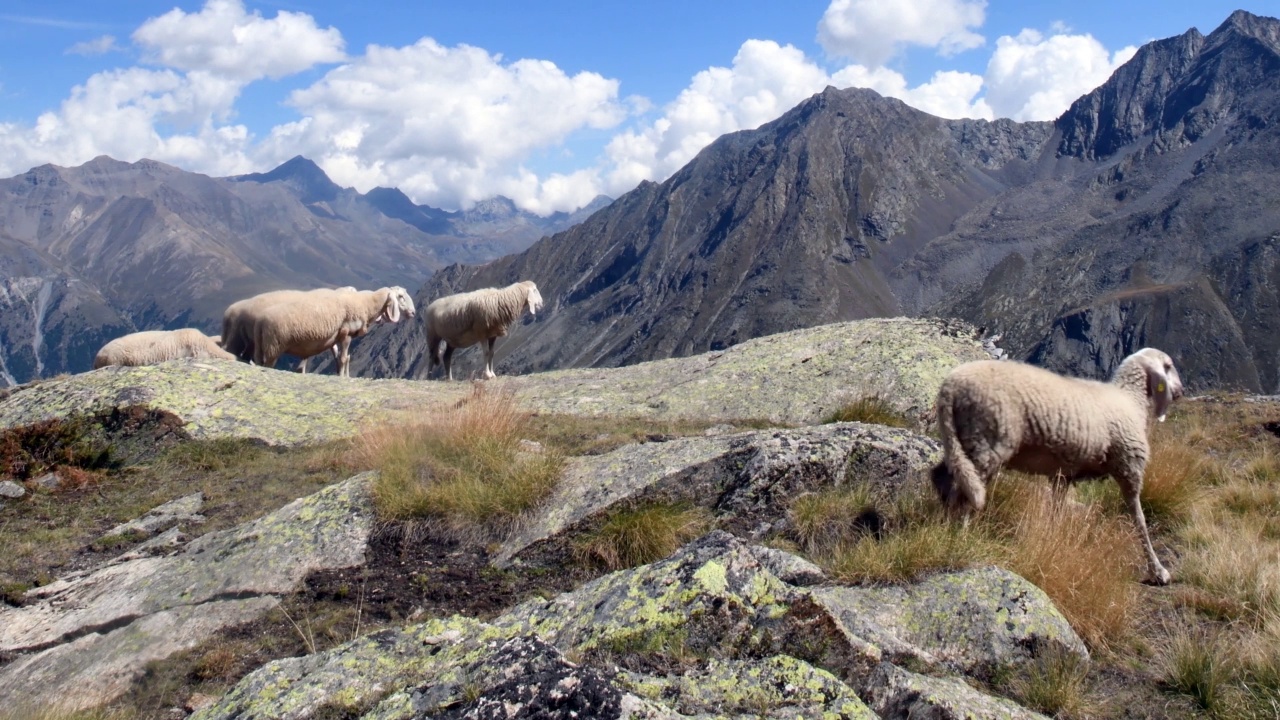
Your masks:
{"label": "large woolly sheep in the foreground grass, facing right", "polygon": [[1053,478],[1061,497],[1075,480],[1111,475],[1147,553],[1147,580],[1167,584],[1142,512],[1151,418],[1165,420],[1183,383],[1169,355],[1146,347],[1124,359],[1110,383],[1068,378],[1010,360],[955,368],[937,397],[943,461],[933,468],[940,500],[965,521],[987,502],[1001,468]]}

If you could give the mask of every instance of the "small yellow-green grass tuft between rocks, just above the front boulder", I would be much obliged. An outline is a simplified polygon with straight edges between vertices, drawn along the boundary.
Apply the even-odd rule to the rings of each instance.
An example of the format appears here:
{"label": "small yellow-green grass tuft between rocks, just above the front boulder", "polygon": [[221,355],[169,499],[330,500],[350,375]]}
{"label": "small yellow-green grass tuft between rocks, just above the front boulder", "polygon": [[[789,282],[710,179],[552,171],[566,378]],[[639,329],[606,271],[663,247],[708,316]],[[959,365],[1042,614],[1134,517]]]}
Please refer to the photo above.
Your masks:
{"label": "small yellow-green grass tuft between rocks, just above the front boulder", "polygon": [[712,527],[712,516],[691,505],[646,505],[612,514],[573,548],[579,561],[622,570],[669,556]]}

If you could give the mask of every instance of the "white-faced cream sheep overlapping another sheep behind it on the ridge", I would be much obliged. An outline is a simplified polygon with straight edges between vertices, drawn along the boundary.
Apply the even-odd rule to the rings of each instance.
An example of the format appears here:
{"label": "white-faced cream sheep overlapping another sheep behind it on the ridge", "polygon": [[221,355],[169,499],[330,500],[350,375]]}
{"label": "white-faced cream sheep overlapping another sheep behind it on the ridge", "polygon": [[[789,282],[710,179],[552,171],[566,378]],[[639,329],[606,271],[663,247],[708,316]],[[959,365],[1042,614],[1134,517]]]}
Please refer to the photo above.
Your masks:
{"label": "white-faced cream sheep overlapping another sheep behind it on the ridge", "polygon": [[351,338],[365,334],[369,324],[412,318],[413,299],[402,287],[374,291],[312,291],[302,297],[276,302],[253,322],[253,361],[271,368],[280,355],[297,355],[305,363],[338,346],[338,374],[349,377]]}

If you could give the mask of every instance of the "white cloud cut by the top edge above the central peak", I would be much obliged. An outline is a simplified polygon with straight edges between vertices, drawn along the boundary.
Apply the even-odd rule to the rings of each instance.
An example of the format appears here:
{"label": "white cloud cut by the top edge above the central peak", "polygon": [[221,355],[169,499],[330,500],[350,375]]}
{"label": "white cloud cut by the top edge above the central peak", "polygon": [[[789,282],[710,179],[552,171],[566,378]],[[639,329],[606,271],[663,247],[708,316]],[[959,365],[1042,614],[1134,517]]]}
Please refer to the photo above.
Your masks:
{"label": "white cloud cut by the top edge above the central peak", "polygon": [[818,23],[818,42],[829,55],[870,67],[908,45],[954,55],[986,42],[972,29],[982,27],[986,9],[986,0],[832,0]]}

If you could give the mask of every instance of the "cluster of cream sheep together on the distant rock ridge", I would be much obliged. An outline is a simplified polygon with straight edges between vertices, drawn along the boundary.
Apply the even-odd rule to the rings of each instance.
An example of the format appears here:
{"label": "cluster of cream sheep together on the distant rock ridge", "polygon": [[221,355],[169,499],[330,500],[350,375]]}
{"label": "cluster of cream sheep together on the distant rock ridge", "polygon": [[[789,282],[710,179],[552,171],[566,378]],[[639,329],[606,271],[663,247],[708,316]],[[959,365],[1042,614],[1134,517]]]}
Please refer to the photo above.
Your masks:
{"label": "cluster of cream sheep together on the distant rock ridge", "polygon": [[[428,373],[436,363],[453,379],[453,351],[485,342],[485,378],[493,378],[497,340],[524,310],[536,315],[543,296],[531,281],[449,295],[426,306]],[[223,313],[223,334],[193,328],[143,331],[108,342],[93,368],[151,365],[178,357],[221,357],[274,368],[282,355],[298,357],[298,370],[323,352],[333,352],[338,375],[351,375],[351,341],[369,327],[415,316],[413,299],[402,287],[278,290],[238,300]]]}

